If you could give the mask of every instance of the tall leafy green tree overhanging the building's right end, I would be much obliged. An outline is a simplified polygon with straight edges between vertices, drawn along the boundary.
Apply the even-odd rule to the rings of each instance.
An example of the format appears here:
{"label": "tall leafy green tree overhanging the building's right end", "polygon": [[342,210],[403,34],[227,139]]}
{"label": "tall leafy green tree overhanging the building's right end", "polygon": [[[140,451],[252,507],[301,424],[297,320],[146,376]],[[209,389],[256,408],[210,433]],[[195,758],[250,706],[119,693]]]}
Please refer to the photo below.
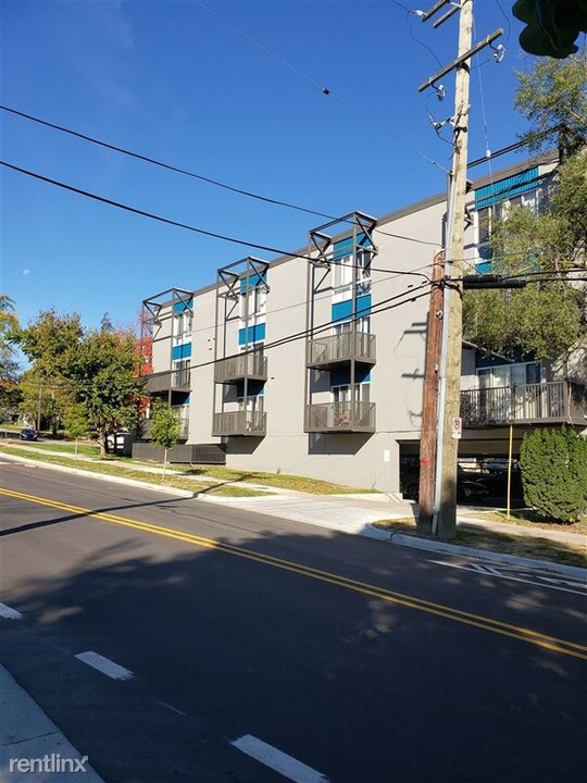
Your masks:
{"label": "tall leafy green tree overhanging the building's right end", "polygon": [[[563,126],[564,156],[530,211],[502,209],[491,232],[491,271],[530,274],[517,290],[466,291],[464,333],[485,348],[514,359],[559,358],[585,337],[587,291],[566,274],[587,262],[586,55],[540,61],[520,74],[516,108],[530,122],[523,136],[536,150],[548,142],[545,129]],[[548,281],[549,275],[557,279]],[[584,276],[584,275],[582,275]]]}

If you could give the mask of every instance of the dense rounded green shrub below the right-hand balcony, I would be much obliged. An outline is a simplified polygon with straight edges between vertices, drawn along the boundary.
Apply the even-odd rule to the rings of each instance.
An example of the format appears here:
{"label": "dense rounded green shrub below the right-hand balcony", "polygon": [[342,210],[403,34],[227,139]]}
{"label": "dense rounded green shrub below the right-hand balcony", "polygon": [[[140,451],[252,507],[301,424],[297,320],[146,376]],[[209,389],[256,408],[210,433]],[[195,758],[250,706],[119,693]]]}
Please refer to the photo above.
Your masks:
{"label": "dense rounded green shrub below the right-hand balcony", "polygon": [[576,522],[587,512],[587,440],[573,430],[525,435],[520,467],[527,506],[563,522]]}

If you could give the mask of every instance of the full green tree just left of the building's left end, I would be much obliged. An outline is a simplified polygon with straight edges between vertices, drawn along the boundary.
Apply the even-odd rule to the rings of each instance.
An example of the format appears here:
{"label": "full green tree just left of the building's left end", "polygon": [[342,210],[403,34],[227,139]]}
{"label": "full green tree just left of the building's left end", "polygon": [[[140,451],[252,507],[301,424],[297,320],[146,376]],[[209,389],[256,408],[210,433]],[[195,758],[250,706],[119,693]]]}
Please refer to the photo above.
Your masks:
{"label": "full green tree just left of the building's left end", "polygon": [[68,350],[60,371],[71,384],[74,400],[82,403],[96,426],[102,456],[109,451],[108,436],[134,428],[145,395],[139,377],[136,337],[132,332],[87,332]]}

